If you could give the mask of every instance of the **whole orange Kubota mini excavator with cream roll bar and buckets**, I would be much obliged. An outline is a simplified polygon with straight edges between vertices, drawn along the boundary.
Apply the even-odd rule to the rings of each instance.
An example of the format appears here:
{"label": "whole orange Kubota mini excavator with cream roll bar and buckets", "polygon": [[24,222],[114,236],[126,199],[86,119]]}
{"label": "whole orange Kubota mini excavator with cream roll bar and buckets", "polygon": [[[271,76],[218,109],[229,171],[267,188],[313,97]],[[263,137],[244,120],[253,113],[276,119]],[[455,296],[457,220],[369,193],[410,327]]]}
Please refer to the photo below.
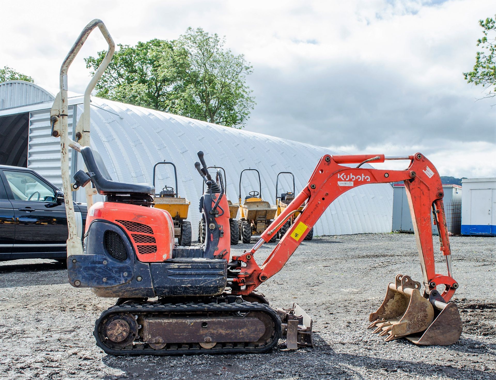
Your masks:
{"label": "whole orange Kubota mini excavator with cream roll bar and buckets", "polygon": [[[99,20],[92,21],[62,65],[61,92],[52,109],[51,121],[53,135],[61,137],[70,284],[76,288],[89,287],[100,297],[119,298],[96,321],[94,335],[105,352],[117,355],[267,352],[283,332],[287,333],[288,343],[291,340],[292,344],[311,344],[308,316],[297,305],[289,313],[272,309],[256,288],[283,268],[339,195],[362,185],[396,181],[403,181],[406,187],[423,283],[406,275],[396,276],[395,282],[388,286],[383,304],[370,315],[371,327],[385,335],[386,340],[406,337],[417,344],[446,345],[459,338],[458,309],[448,303],[458,284],[451,274],[443,190],[434,165],[424,155],[324,155],[307,186],[261,234],[253,248],[241,255],[231,255],[224,180],[220,171],[215,178],[209,174],[203,153],[198,152],[201,164],[196,162],[195,167],[206,184],[200,199],[200,210],[207,223],[206,239],[202,247],[175,246],[170,214],[151,207],[153,187],[113,181],[97,152],[88,146],[91,89],[85,95],[83,122],[76,126],[78,141],[68,137],[66,70],[95,27],[104,33],[109,43],[107,56],[112,56],[113,41],[105,26]],[[108,60],[102,63],[103,69],[105,62]],[[103,72],[102,67],[90,86],[94,86],[98,74]],[[79,151],[85,163],[85,170],[74,175],[73,184],[68,174],[68,147]],[[367,162],[400,159],[409,161],[407,169],[363,167]],[[80,187],[86,188],[89,204],[95,191],[106,197],[105,201],[89,207],[84,252],[71,215],[70,190]],[[434,268],[431,211],[439,230],[447,275],[438,274]],[[259,265],[255,261],[256,251],[295,213],[299,214],[294,223]]]}

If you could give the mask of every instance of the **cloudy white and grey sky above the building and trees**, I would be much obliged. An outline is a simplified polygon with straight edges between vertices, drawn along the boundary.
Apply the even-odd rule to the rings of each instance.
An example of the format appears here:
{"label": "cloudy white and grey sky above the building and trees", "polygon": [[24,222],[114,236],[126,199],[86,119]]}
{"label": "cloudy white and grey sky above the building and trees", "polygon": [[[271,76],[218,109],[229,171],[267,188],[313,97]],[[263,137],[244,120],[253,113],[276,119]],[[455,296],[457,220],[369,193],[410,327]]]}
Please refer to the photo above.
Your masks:
{"label": "cloudy white and grey sky above the building and trees", "polygon": [[[246,129],[350,153],[421,151],[441,175],[496,177],[496,100],[477,101],[483,89],[462,75],[494,0],[9,1],[2,13],[19,16],[2,19],[0,66],[44,87],[58,87],[93,18],[129,45],[202,27],[253,65]],[[90,37],[70,90],[84,91],[82,58],[104,47]]]}

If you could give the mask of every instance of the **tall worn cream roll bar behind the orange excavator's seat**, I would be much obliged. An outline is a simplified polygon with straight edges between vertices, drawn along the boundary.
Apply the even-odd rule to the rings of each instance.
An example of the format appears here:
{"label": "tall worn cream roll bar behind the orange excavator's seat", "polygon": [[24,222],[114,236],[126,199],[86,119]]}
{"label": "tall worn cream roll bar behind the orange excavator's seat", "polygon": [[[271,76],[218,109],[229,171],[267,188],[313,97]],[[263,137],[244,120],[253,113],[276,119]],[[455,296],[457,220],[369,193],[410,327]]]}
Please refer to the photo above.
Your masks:
{"label": "tall worn cream roll bar behind the orange excavator's seat", "polygon": [[[72,140],[68,136],[68,99],[67,99],[67,72],[69,70],[69,66],[74,61],[76,55],[81,50],[81,47],[85,43],[86,39],[90,35],[90,33],[95,29],[100,29],[103,37],[107,41],[109,46],[107,53],[100,63],[100,66],[96,70],[95,74],[89,81],[86,86],[86,90],[84,91],[84,100],[83,100],[83,113],[79,118],[79,121],[75,127],[75,136],[76,141]],[[62,174],[62,190],[64,192],[64,202],[65,202],[65,214],[67,216],[67,227],[69,231],[68,239],[67,239],[67,256],[71,254],[83,254],[83,248],[81,244],[81,239],[77,236],[77,225],[76,218],[74,214],[74,203],[72,199],[72,190],[74,188],[71,185],[70,171],[69,171],[69,152],[68,148],[72,148],[76,151],[80,151],[82,146],[89,146],[90,144],[90,95],[91,91],[95,88],[96,83],[103,75],[105,69],[109,65],[112,57],[114,56],[114,52],[116,49],[116,45],[114,40],[110,36],[107,27],[103,23],[102,20],[94,19],[88,25],[86,25],[77,38],[72,48],[69,50],[69,53],[65,57],[61,70],[60,70],[60,91],[55,97],[54,105],[50,110],[50,124],[52,127],[52,136],[60,137],[61,139],[61,174]],[[86,169],[85,169],[86,171]],[[91,185],[86,185],[86,203],[88,205],[88,209],[93,204],[93,195],[96,194],[96,191],[92,188]]]}

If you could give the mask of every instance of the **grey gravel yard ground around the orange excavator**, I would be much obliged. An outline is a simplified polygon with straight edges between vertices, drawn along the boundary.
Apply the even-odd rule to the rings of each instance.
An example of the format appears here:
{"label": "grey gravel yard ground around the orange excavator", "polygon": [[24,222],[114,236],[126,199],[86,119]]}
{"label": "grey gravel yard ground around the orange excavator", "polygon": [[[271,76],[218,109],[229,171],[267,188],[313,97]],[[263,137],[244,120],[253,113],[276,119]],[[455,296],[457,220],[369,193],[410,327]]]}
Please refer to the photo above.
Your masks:
{"label": "grey gravel yard ground around the orange excavator", "polygon": [[[434,237],[434,244],[437,238]],[[261,261],[271,249],[260,249]],[[240,244],[239,254],[251,245]],[[274,307],[298,302],[313,316],[313,349],[268,354],[113,357],[92,335],[115,299],[67,284],[50,260],[0,263],[0,379],[495,379],[496,239],[452,237],[463,334],[451,346],[384,342],[368,315],[398,273],[421,280],[415,238],[408,234],[318,237],[305,242],[281,272],[258,289]],[[436,254],[438,271],[445,265]],[[475,279],[482,280],[479,284]]]}

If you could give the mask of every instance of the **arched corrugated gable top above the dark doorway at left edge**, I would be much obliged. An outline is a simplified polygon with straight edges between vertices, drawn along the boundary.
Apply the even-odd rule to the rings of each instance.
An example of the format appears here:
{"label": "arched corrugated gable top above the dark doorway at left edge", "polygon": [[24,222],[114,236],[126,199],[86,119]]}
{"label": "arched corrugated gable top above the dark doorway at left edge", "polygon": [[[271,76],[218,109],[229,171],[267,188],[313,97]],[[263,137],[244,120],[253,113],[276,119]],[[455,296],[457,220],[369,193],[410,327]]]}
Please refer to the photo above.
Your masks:
{"label": "arched corrugated gable top above the dark doorway at left edge", "polygon": [[23,80],[0,83],[0,110],[54,100],[52,94],[40,86]]}

